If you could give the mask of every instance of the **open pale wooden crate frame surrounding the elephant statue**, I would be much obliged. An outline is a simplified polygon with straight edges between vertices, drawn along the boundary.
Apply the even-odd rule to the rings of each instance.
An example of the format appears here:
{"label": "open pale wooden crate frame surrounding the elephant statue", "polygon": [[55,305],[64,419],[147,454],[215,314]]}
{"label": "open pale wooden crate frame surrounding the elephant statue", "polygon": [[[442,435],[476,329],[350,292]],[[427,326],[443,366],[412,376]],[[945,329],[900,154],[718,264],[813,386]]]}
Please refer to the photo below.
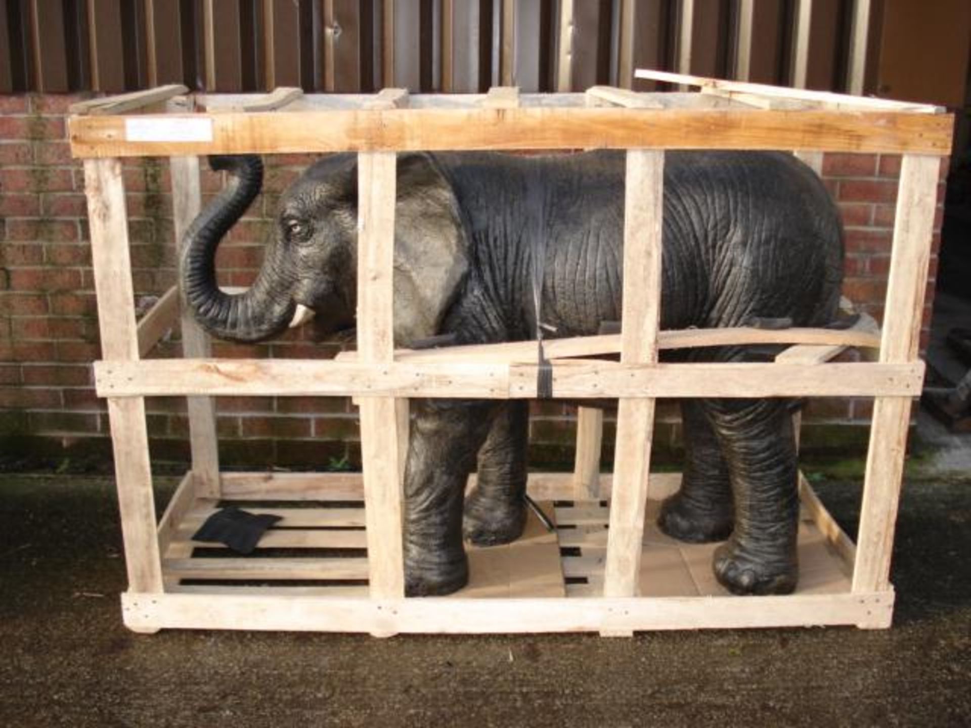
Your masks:
{"label": "open pale wooden crate frame surrounding the elephant statue", "polygon": [[[594,87],[586,94],[520,97],[515,88],[492,88],[480,95],[409,96],[385,89],[375,96],[303,96],[298,89],[277,89],[266,96],[189,97],[182,86],[165,86],[84,102],[72,110],[72,150],[84,158],[103,349],[95,378],[99,396],[108,401],[129,580],[122,596],[125,624],[138,632],[184,627],[381,636],[889,626],[890,550],[911,401],[920,393],[923,376],[921,310],[939,170],[941,158],[950,152],[953,118],[916,104],[649,76],[699,86],[702,92],[644,94]],[[531,398],[537,370],[535,349],[528,343],[441,352],[393,349],[396,153],[603,148],[627,150],[623,325],[619,336],[551,342],[548,355],[556,396],[619,398],[616,468],[612,477],[600,476],[602,419],[597,411],[581,408],[575,472],[534,474],[529,480],[534,498],[597,501],[610,496],[602,595],[577,596],[573,590],[564,599],[405,599],[401,478],[408,398]],[[883,330],[658,331],[665,149],[797,149],[817,168],[823,151],[902,154],[885,309],[892,315],[886,316]],[[121,158],[171,157],[178,241],[200,207],[197,155],[339,150],[358,154],[357,352],[337,361],[212,359],[206,336],[183,313],[188,358],[144,360],[180,316],[178,294],[169,291],[136,323]],[[765,364],[666,364],[657,358],[663,347],[760,342],[793,346],[775,363]],[[824,363],[848,346],[879,348],[879,357]],[[608,352],[619,352],[620,361],[571,358]],[[255,394],[355,396],[363,474],[220,473],[212,397]],[[152,395],[188,398],[192,451],[192,468],[157,524],[144,404]],[[848,589],[779,597],[638,596],[648,496],[664,490],[658,485],[663,478],[649,477],[654,401],[711,396],[875,398],[856,546],[800,477],[804,513],[852,575]],[[366,562],[348,562],[337,573],[366,574],[367,593],[359,588],[338,588],[329,595],[313,589],[180,588],[179,567],[191,550],[184,534],[179,535],[185,519],[220,498],[363,499],[365,539],[357,536],[345,543],[366,544]],[[320,565],[319,573],[333,576],[330,566]]]}

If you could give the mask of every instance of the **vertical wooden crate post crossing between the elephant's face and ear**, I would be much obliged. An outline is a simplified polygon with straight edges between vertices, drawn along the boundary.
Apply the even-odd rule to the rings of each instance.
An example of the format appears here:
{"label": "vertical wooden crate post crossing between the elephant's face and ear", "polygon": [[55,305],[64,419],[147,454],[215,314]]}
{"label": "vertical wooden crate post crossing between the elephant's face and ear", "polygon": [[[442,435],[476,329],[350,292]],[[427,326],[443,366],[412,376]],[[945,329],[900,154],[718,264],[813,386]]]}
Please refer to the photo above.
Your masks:
{"label": "vertical wooden crate post crossing between the elephant's face and ear", "polygon": [[[361,152],[357,159],[357,350],[362,362],[389,362],[397,155]],[[361,397],[359,404],[371,597],[402,597],[401,408],[390,397]]]}

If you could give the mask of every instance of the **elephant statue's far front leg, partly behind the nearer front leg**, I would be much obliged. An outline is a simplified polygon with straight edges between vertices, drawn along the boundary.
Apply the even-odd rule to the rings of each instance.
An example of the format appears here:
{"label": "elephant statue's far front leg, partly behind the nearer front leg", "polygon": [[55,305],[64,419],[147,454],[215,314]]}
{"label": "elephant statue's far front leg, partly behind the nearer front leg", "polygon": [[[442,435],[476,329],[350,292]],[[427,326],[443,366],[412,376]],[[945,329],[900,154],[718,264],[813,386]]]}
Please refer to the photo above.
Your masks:
{"label": "elephant statue's far front leg, partly behind the nearer front leg", "polygon": [[516,541],[526,524],[529,403],[510,401],[492,420],[479,450],[476,487],[465,499],[462,530],[476,546]]}

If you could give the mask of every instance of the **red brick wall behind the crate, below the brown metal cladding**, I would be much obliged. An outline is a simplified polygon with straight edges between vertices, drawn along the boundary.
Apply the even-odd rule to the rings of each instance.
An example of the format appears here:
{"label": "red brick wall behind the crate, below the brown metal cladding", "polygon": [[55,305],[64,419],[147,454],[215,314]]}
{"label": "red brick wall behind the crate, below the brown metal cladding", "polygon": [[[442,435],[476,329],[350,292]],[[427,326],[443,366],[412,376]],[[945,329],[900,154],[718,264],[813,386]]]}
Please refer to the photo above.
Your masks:
{"label": "red brick wall behind the crate, below the brown metal cladding", "polygon": [[[8,463],[99,464],[110,452],[105,408],[91,385],[90,362],[98,358],[99,347],[84,177],[80,164],[70,158],[63,116],[76,100],[0,96],[0,453]],[[224,284],[252,280],[277,197],[307,162],[302,155],[267,159],[264,194],[219,250]],[[899,159],[887,155],[830,154],[823,165],[824,180],[846,223],[846,294],[878,319],[883,315],[898,171]],[[168,163],[132,160],[125,164],[124,175],[135,293],[144,311],[175,282]],[[205,195],[211,196],[219,185],[218,176],[204,176]],[[931,292],[937,243],[935,235]],[[925,328],[929,312],[928,298]],[[257,347],[214,345],[215,355],[225,357],[310,357],[333,355],[338,349],[312,344],[300,331]],[[151,355],[178,356],[177,336]],[[153,398],[148,412],[154,461],[184,462],[184,401]],[[805,447],[860,451],[869,412],[865,399],[814,400],[805,418]],[[669,459],[680,443],[676,408],[663,404],[658,419],[655,452]],[[607,443],[613,437],[608,420]],[[218,429],[226,466],[319,468],[357,461],[357,421],[345,399],[220,398]],[[574,437],[570,411],[536,405],[531,436],[535,463],[568,462]],[[609,454],[609,447],[605,449]]]}

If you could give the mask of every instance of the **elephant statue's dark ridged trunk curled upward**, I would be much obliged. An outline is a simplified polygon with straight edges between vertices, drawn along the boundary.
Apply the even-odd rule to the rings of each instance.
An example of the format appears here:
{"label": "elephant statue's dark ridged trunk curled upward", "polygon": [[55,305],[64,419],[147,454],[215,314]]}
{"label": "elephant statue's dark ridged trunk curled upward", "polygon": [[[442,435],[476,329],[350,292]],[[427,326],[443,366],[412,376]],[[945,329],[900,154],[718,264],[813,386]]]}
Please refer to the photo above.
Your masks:
{"label": "elephant statue's dark ridged trunk curled upward", "polygon": [[222,339],[258,342],[286,328],[296,311],[279,246],[271,246],[251,287],[232,295],[219,289],[216,250],[230,227],[259,194],[263,165],[258,156],[211,156],[229,182],[185,231],[180,272],[184,303],[207,331]]}

